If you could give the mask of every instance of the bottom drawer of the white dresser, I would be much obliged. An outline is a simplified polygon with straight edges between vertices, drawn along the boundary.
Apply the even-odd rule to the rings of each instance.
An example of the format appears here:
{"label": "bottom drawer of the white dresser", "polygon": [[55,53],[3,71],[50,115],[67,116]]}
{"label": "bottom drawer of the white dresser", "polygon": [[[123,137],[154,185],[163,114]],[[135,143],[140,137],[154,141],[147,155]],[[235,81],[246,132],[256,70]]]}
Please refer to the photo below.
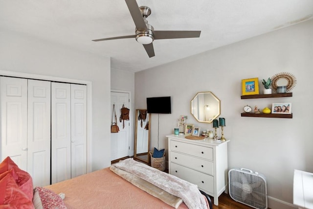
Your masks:
{"label": "bottom drawer of the white dresser", "polygon": [[192,170],[176,163],[171,163],[170,174],[192,184],[198,185],[199,189],[210,192],[211,194],[209,193],[209,195],[214,194],[213,176]]}

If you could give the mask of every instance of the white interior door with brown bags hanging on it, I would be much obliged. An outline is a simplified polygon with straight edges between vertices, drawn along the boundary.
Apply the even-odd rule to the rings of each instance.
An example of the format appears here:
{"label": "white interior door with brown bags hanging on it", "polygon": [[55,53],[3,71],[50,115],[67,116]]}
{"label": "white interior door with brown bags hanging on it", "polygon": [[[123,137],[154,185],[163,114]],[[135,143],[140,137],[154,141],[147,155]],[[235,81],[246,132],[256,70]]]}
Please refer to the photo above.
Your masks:
{"label": "white interior door with brown bags hanging on it", "polygon": [[120,122],[119,116],[121,115],[123,104],[129,108],[129,103],[129,93],[111,92],[111,119],[113,104],[115,104],[117,125],[119,127],[118,133],[111,133],[111,161],[128,156],[131,118],[128,121],[124,121],[125,127],[123,128],[123,120]]}

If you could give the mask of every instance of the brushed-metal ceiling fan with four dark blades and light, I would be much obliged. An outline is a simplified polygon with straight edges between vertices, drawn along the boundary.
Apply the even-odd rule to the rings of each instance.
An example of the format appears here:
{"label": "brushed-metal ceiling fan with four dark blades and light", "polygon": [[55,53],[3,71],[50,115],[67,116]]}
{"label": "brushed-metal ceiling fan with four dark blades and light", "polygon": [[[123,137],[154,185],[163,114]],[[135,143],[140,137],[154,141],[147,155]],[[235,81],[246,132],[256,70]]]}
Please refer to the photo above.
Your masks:
{"label": "brushed-metal ceiling fan with four dark blades and light", "polygon": [[136,38],[136,41],[143,45],[149,57],[155,56],[152,42],[156,39],[181,39],[181,38],[199,38],[201,31],[195,30],[154,30],[153,26],[148,24],[147,17],[151,14],[151,9],[147,6],[140,6],[136,0],[125,0],[132,18],[135,23],[135,35],[118,36],[104,39],[95,39],[94,42],[113,39]]}

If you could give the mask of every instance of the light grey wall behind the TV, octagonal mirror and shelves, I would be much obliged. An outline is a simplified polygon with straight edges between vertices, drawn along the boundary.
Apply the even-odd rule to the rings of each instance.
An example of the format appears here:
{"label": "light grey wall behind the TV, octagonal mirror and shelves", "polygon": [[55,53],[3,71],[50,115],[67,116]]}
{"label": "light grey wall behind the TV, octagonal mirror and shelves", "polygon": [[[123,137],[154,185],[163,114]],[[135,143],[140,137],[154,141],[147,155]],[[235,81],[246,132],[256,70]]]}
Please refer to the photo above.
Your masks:
{"label": "light grey wall behind the TV, octagonal mirror and shelves", "polygon": [[[293,170],[313,172],[312,43],[311,20],[135,73],[136,108],[146,107],[146,97],[172,96],[172,114],[160,114],[159,121],[158,115],[152,116],[150,148],[158,144],[159,148],[168,148],[165,136],[173,133],[180,115],[188,116],[187,123],[213,130],[212,124],[199,123],[190,114],[190,100],[195,94],[211,91],[221,100],[221,116],[226,119],[228,168],[244,167],[263,173],[268,183],[269,208],[290,208]],[[279,72],[296,77],[292,97],[240,98],[242,79],[267,79]],[[271,108],[272,102],[291,102],[293,118],[240,115],[246,104],[262,110]]]}

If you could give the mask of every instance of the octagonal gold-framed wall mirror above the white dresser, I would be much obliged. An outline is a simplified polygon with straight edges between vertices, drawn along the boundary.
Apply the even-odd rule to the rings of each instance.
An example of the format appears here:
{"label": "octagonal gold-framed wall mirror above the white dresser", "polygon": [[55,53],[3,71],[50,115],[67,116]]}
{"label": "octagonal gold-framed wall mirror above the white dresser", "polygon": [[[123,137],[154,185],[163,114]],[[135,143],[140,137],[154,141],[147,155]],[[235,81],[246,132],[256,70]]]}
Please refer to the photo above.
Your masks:
{"label": "octagonal gold-framed wall mirror above the white dresser", "polygon": [[190,102],[190,112],[199,122],[211,123],[221,114],[221,101],[212,92],[199,92]]}

